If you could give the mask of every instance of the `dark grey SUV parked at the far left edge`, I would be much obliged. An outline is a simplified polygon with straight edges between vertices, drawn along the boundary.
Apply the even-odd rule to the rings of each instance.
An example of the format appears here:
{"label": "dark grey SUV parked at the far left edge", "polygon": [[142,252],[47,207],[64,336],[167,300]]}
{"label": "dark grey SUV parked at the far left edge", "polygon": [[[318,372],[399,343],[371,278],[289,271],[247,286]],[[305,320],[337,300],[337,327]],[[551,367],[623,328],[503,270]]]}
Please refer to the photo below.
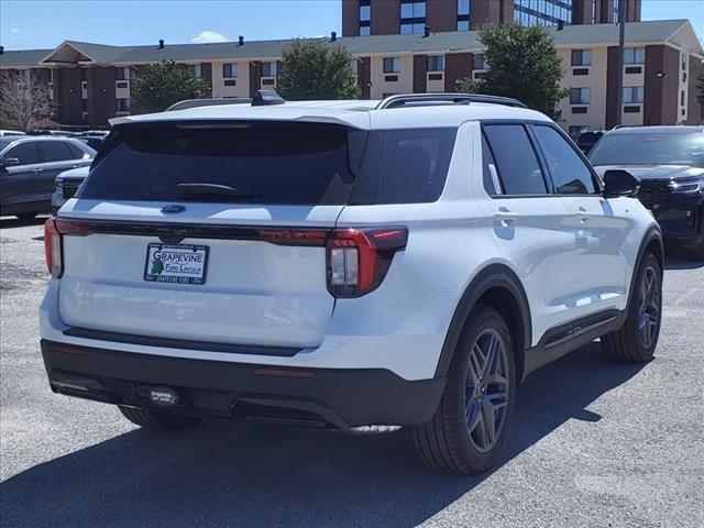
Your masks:
{"label": "dark grey SUV parked at the far left edge", "polygon": [[95,154],[85,143],[68,138],[0,138],[0,215],[31,219],[48,212],[56,175],[90,165]]}

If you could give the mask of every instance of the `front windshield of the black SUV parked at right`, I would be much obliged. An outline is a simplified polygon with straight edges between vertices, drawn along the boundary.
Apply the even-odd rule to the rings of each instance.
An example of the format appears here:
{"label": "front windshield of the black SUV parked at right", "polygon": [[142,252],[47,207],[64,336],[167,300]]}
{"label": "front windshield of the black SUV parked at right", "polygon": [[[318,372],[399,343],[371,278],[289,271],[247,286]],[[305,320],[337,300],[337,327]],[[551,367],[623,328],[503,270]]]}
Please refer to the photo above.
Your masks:
{"label": "front windshield of the black SUV parked at right", "polygon": [[606,134],[590,153],[592,165],[704,167],[704,134]]}

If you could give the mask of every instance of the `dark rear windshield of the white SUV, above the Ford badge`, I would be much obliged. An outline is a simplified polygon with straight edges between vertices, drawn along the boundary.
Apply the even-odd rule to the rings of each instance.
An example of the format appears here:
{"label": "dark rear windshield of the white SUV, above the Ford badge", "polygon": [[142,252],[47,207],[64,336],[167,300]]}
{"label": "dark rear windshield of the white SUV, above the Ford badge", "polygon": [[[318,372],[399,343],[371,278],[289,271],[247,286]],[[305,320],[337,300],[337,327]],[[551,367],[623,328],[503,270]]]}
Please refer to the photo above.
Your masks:
{"label": "dark rear windshield of the white SUV, above the Ford badge", "polygon": [[79,197],[348,204],[355,179],[350,151],[360,134],[320,123],[125,128],[109,140]]}

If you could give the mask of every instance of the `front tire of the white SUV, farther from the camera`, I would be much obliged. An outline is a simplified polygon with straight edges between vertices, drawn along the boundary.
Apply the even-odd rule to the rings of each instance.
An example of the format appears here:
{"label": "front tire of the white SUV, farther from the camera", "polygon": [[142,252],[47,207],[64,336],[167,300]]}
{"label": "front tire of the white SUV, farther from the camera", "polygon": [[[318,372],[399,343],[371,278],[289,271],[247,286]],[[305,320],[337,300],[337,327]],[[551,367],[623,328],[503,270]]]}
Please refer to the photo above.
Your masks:
{"label": "front tire of the white SUV, farther from the camera", "polygon": [[[644,289],[646,287],[644,280],[646,280],[647,274],[652,275],[656,280],[653,285],[654,299],[649,297],[650,294]],[[662,320],[662,268],[652,253],[646,253],[644,256],[634,288],[626,322],[619,330],[602,338],[602,348],[614,360],[626,363],[645,363],[652,360],[658,345]],[[654,308],[644,308],[646,305],[650,305],[651,301],[657,305],[657,310]],[[644,309],[646,310],[645,315]],[[657,318],[652,322],[650,317],[656,315],[656,311]],[[644,326],[648,326],[648,329],[645,329]],[[649,339],[644,336],[646,331],[650,334]]]}

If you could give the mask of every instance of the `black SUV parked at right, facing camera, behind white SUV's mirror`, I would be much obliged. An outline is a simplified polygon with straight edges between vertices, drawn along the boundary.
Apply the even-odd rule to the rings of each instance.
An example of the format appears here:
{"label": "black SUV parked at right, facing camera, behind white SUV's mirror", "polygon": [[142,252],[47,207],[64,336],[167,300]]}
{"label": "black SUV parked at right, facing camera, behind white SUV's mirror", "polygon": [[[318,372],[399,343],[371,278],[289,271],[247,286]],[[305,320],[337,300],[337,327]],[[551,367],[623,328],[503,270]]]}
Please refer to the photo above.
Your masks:
{"label": "black SUV parked at right, facing camera, behind white SUV's mirror", "polygon": [[590,154],[597,172],[626,169],[640,179],[638,198],[666,242],[704,260],[704,127],[626,127],[604,135]]}

